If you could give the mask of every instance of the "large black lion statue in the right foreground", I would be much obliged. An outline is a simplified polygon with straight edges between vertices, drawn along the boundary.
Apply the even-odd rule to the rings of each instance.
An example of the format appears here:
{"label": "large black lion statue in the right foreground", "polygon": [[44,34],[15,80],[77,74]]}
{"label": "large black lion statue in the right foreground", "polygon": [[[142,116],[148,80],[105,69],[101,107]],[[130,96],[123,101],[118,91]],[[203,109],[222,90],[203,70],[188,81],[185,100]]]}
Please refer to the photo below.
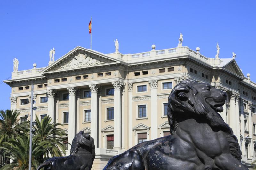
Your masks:
{"label": "large black lion statue in the right foreground", "polygon": [[245,170],[232,129],[218,112],[226,93],[183,80],[168,98],[171,135],[139,143],[112,157],[104,170]]}

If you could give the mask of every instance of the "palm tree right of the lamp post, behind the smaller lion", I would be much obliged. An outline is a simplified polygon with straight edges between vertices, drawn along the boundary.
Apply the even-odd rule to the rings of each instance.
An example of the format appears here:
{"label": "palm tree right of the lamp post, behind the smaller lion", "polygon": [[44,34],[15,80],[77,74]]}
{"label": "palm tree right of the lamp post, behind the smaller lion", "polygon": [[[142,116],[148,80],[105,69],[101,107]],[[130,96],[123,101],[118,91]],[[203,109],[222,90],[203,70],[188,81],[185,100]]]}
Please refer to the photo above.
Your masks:
{"label": "palm tree right of the lamp post, behind the smaller lion", "polygon": [[[46,148],[45,152],[40,155],[39,163],[43,163],[43,156],[49,157],[48,153],[52,157],[62,156],[62,153],[65,153],[65,146],[63,143],[67,143],[67,139],[63,136],[67,136],[67,133],[57,126],[61,123],[51,123],[52,118],[48,116],[39,121],[36,116],[36,125],[34,128],[34,136],[40,142],[45,142],[44,147]],[[62,151],[62,152],[61,152]]]}

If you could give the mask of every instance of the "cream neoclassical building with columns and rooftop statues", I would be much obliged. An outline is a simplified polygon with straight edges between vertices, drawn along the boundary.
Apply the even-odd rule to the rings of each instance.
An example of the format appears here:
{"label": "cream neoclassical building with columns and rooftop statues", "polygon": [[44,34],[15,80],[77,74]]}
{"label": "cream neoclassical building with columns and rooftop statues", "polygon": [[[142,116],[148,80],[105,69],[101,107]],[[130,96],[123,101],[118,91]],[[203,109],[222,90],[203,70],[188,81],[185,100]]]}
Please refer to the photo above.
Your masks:
{"label": "cream neoclassical building with columns and rooftop statues", "polygon": [[[102,169],[108,159],[132,146],[169,135],[167,101],[172,88],[191,77],[226,91],[220,113],[237,136],[242,161],[250,165],[256,156],[256,83],[244,77],[235,61],[208,58],[182,46],[137,54],[103,54],[76,47],[44,68],[14,71],[4,83],[11,87],[11,109],[21,112],[20,121],[30,120],[31,98],[37,107],[33,118],[50,115],[62,123],[72,142],[81,130],[94,138],[96,158],[93,169]],[[117,41],[117,40],[116,40]],[[52,57],[53,54],[53,57]],[[25,61],[20,61],[20,63]],[[34,96],[31,96],[31,84]],[[67,154],[70,145],[67,146]]]}

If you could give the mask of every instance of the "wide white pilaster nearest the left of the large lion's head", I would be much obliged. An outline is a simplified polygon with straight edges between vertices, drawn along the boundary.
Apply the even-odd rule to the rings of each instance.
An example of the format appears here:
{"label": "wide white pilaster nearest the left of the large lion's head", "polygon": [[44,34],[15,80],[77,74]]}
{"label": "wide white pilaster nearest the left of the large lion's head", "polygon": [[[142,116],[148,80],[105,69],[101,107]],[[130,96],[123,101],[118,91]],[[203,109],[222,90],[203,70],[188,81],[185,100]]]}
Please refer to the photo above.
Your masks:
{"label": "wide white pilaster nearest the left of the large lion's head", "polygon": [[151,140],[157,138],[157,80],[148,81],[150,85]]}

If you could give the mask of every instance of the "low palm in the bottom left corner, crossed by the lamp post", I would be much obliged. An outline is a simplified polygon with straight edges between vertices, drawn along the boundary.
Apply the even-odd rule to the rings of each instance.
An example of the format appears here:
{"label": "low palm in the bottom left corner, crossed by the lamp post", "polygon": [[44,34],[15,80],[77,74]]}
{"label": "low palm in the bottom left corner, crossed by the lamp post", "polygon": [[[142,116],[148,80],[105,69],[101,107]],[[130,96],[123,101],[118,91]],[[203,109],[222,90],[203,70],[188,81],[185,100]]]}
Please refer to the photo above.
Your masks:
{"label": "low palm in the bottom left corner, crossed by the lamp post", "polygon": [[[28,170],[29,166],[29,135],[20,134],[16,138],[9,139],[8,142],[3,142],[4,146],[0,147],[6,152],[11,153],[13,162],[6,164],[1,170],[19,169]],[[38,166],[37,158],[46,150],[45,142],[39,141],[36,137],[32,139],[32,169]]]}

